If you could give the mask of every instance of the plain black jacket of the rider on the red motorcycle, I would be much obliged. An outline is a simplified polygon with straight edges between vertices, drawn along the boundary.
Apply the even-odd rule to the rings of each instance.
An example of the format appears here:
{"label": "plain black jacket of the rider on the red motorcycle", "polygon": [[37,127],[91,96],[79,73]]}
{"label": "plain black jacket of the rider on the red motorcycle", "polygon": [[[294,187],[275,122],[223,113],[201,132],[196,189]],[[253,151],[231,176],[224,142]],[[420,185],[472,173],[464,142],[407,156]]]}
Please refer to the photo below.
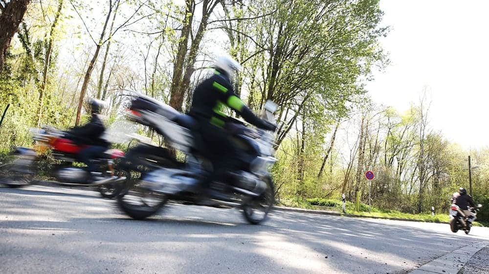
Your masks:
{"label": "plain black jacket of the rider on the red motorcycle", "polygon": [[98,114],[92,114],[90,121],[80,127],[71,129],[70,134],[75,142],[85,145],[96,145],[108,147],[110,144],[102,136],[105,126]]}

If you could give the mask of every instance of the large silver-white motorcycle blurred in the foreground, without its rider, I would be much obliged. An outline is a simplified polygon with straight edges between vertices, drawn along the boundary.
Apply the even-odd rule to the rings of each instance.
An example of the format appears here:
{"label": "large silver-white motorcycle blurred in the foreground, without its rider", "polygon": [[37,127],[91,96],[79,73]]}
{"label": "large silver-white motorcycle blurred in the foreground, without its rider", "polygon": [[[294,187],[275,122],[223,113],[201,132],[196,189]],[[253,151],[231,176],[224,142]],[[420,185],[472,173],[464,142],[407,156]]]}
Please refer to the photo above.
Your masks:
{"label": "large silver-white motorcycle blurred in the foreground, without its rider", "polygon": [[[265,104],[264,115],[269,122],[274,122],[276,109],[277,105],[271,101]],[[145,219],[156,214],[170,200],[199,205],[200,179],[212,167],[202,156],[205,145],[195,131],[194,118],[143,95],[132,101],[128,117],[153,128],[165,138],[170,149],[182,152],[186,160],[179,162],[168,156],[156,169],[141,175],[140,180],[117,197],[120,209],[133,219]],[[249,223],[259,224],[267,218],[274,202],[274,185],[268,173],[268,167],[276,161],[273,133],[248,128],[232,118],[226,126],[240,149],[237,155],[240,170],[229,172],[226,183],[211,183],[212,204],[205,206],[239,208]]]}

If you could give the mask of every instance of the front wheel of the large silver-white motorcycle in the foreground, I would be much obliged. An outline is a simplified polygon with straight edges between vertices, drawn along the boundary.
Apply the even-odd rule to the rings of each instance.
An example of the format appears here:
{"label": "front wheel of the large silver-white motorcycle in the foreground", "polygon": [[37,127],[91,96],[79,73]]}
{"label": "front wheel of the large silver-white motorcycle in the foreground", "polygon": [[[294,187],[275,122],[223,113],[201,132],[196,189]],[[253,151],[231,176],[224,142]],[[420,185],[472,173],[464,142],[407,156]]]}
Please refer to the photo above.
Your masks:
{"label": "front wheel of the large silver-white motorcycle in the foreground", "polygon": [[242,206],[244,218],[253,225],[258,225],[266,220],[273,206],[275,195],[273,183],[270,178],[265,183],[267,183],[267,190],[260,197],[245,201]]}

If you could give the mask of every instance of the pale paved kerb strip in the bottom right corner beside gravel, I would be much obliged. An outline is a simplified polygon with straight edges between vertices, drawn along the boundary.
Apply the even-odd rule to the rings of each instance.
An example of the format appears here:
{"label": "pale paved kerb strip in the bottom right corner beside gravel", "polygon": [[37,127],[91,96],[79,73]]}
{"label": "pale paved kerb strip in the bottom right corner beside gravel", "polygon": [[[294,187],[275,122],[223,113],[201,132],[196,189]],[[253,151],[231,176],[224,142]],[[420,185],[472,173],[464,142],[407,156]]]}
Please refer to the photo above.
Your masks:
{"label": "pale paved kerb strip in the bottom right corner beside gravel", "polygon": [[467,245],[420,266],[409,274],[457,274],[475,253],[487,246],[486,243]]}

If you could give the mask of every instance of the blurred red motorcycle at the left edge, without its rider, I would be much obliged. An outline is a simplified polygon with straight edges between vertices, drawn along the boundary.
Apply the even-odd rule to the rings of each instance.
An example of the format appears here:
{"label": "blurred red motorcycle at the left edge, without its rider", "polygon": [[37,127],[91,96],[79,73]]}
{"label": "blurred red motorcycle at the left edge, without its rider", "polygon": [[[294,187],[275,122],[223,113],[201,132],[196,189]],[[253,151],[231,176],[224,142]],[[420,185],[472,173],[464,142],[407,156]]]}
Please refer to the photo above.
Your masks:
{"label": "blurred red motorcycle at the left edge, without its rider", "polygon": [[114,160],[124,157],[124,152],[109,149],[100,157],[93,159],[99,167],[98,180],[87,182],[89,172],[74,166],[78,162],[76,155],[84,146],[75,144],[67,132],[54,128],[31,129],[35,141],[34,148],[17,147],[12,153],[13,160],[1,167],[0,183],[8,187],[21,187],[35,181],[35,175],[44,155],[51,150],[50,157],[57,162],[49,168],[49,177],[54,177],[61,185],[96,186],[104,198],[113,198],[124,187],[127,175],[114,170]]}

